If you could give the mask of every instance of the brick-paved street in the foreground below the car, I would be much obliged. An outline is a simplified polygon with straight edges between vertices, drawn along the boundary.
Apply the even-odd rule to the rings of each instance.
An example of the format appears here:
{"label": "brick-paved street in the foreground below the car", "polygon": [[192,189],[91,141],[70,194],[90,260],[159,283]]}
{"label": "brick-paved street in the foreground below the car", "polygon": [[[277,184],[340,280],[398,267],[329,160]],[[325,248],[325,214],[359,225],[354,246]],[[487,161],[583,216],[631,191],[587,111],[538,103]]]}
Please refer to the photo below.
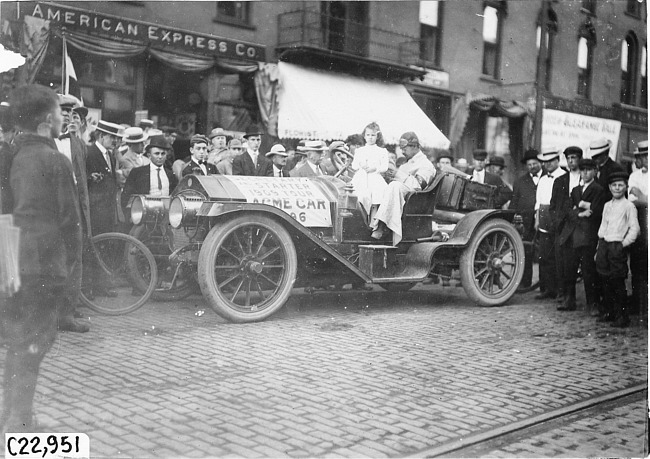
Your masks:
{"label": "brick-paved street in the foreground below the car", "polygon": [[645,328],[532,297],[298,294],[256,324],[198,296],[93,314],[46,358],[39,420],[87,433],[93,457],[396,457],[646,382]]}

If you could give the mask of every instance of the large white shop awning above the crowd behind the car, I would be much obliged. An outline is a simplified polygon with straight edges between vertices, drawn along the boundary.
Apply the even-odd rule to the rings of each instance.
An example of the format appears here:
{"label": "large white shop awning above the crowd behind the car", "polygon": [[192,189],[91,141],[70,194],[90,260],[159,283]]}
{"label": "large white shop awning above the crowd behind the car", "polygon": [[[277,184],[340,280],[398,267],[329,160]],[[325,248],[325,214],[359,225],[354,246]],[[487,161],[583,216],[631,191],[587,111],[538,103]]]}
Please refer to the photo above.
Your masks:
{"label": "large white shop awning above the crowd behind the car", "polygon": [[384,141],[399,143],[413,131],[429,148],[449,140],[415,103],[404,85],[278,63],[278,137],[339,140],[375,121]]}

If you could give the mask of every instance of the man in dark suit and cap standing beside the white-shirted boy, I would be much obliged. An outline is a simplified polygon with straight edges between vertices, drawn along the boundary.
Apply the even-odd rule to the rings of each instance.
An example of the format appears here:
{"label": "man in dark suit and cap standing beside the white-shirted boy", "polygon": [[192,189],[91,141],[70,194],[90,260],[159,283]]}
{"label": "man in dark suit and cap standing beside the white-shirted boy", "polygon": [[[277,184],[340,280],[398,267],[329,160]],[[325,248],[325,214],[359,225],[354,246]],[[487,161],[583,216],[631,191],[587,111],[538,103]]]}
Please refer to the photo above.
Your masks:
{"label": "man in dark suit and cap standing beside the white-shirted boy", "polygon": [[[559,244],[565,249],[570,247],[571,250],[571,256],[565,259],[567,264],[564,271],[565,299],[558,310],[574,311],[576,309],[576,278],[578,266],[582,266],[587,310],[596,312],[600,289],[598,288],[598,274],[594,258],[598,245],[598,228],[606,202],[605,190],[594,180],[596,177],[596,162],[594,160],[581,159],[579,167],[584,184],[571,190],[572,208],[564,221],[562,230],[558,232]],[[560,179],[557,179],[556,182],[558,180]]]}

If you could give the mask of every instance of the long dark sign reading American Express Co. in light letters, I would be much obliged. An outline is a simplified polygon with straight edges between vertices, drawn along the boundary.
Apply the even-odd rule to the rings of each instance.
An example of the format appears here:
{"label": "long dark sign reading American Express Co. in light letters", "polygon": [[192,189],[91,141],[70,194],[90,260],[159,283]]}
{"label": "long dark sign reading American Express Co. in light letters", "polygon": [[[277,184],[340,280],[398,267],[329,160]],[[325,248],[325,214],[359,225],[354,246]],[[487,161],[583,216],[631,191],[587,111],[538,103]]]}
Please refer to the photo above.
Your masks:
{"label": "long dark sign reading American Express Co. in light letters", "polygon": [[178,51],[238,60],[265,60],[264,46],[239,40],[51,3],[36,3],[33,10],[30,11],[32,16],[50,21],[53,26],[65,27],[112,40],[143,43],[158,49],[173,48]]}

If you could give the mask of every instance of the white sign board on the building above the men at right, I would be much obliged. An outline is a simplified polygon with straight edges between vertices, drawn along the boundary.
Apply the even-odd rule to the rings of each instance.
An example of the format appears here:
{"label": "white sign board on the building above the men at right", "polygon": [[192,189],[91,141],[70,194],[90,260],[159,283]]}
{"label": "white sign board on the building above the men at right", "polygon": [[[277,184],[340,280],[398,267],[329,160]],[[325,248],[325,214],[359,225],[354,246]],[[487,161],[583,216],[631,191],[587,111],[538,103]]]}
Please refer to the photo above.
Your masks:
{"label": "white sign board on the building above the men at right", "polygon": [[582,148],[585,157],[589,157],[589,143],[604,137],[612,141],[609,156],[616,160],[620,121],[546,108],[542,117],[542,148],[553,146],[562,151],[566,147],[576,146]]}

